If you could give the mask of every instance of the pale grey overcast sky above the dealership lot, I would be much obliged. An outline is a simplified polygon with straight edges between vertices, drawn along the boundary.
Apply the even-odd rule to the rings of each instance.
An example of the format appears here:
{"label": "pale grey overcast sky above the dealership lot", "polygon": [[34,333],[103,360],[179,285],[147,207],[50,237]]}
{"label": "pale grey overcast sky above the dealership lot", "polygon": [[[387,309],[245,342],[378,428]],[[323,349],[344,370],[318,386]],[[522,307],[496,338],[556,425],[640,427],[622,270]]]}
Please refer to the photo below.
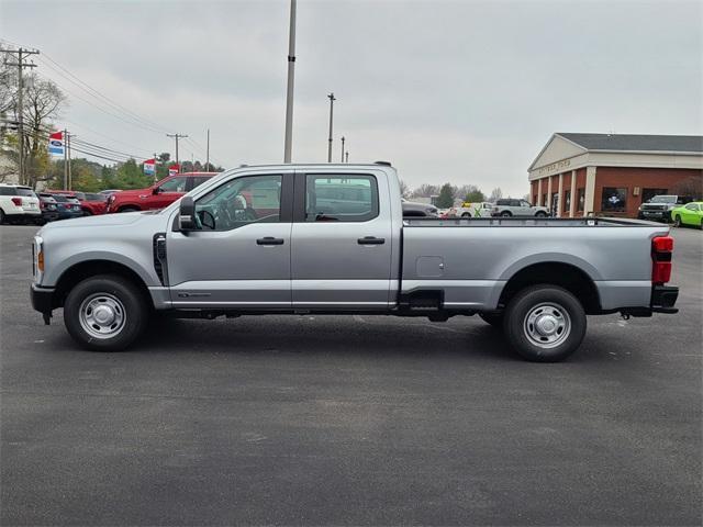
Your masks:
{"label": "pale grey overcast sky above the dealership lot", "polygon": [[[326,160],[330,91],[335,160],[344,135],[350,161],[390,160],[412,187],[522,197],[554,132],[702,134],[702,5],[299,0],[293,161]],[[0,0],[0,37],[200,145],[210,127],[212,158],[234,167],[282,160],[288,15],[287,0]],[[36,70],[70,101],[59,126],[174,152],[80,100],[97,102],[46,60]],[[191,153],[204,157],[183,143]]]}

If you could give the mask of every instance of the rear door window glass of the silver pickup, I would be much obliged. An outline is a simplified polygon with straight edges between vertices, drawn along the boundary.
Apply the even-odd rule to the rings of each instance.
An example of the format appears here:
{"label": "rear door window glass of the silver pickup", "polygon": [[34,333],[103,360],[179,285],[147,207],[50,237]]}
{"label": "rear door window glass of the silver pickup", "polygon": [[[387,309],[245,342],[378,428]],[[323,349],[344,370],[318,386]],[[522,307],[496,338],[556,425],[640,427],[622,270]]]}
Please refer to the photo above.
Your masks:
{"label": "rear door window glass of the silver pickup", "polygon": [[378,216],[373,176],[308,175],[306,222],[367,222]]}

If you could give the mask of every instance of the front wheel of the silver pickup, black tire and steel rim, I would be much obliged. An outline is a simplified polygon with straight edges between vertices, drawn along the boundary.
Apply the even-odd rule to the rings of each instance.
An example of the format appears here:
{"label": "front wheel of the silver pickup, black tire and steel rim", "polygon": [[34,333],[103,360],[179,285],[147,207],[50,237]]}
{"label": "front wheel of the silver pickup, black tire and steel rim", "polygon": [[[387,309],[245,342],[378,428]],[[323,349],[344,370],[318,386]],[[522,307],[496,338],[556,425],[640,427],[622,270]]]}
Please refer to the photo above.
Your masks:
{"label": "front wheel of the silver pickup, black tire and steel rim", "polygon": [[[100,299],[107,299],[103,302]],[[91,304],[101,309],[105,305],[115,315],[115,330],[107,327],[105,334],[96,336],[101,327],[99,323],[105,322],[98,317],[98,310],[92,310]],[[90,325],[89,316],[82,315],[89,310],[93,314],[94,324],[91,334],[83,324]],[[104,311],[105,307],[102,307]],[[120,314],[121,313],[121,314]],[[87,319],[88,318],[88,319]],[[99,274],[90,277],[78,283],[70,290],[64,303],[64,324],[74,340],[80,346],[93,351],[120,351],[130,346],[144,330],[149,319],[149,309],[140,289],[131,281],[115,274]],[[81,322],[82,321],[82,322]],[[111,335],[111,333],[114,333]]]}

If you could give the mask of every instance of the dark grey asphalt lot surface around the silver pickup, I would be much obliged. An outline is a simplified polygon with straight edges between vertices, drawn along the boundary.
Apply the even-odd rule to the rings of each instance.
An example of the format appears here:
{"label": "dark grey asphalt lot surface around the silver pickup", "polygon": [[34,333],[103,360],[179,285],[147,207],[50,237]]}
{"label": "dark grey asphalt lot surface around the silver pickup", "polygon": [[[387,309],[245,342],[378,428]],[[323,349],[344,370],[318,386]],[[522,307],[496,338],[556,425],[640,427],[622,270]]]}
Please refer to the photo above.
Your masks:
{"label": "dark grey asphalt lot surface around the silver pickup", "polygon": [[703,233],[678,315],[591,317],[569,361],[478,317],[175,321],[78,350],[0,227],[2,525],[700,525]]}

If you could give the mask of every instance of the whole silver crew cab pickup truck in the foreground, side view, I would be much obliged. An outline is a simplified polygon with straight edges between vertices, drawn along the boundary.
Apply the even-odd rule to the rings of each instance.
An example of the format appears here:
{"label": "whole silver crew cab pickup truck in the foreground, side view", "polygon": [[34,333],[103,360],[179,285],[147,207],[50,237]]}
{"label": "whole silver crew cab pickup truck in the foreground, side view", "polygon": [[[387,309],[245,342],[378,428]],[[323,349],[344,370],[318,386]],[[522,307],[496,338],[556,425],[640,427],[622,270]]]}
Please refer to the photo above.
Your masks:
{"label": "whole silver crew cab pickup truck in the foreground, side view", "polygon": [[161,211],[69,220],[34,238],[32,303],[80,345],[119,350],[154,314],[480,315],[555,361],[587,316],[676,313],[666,225],[403,218],[388,164],[242,167]]}

